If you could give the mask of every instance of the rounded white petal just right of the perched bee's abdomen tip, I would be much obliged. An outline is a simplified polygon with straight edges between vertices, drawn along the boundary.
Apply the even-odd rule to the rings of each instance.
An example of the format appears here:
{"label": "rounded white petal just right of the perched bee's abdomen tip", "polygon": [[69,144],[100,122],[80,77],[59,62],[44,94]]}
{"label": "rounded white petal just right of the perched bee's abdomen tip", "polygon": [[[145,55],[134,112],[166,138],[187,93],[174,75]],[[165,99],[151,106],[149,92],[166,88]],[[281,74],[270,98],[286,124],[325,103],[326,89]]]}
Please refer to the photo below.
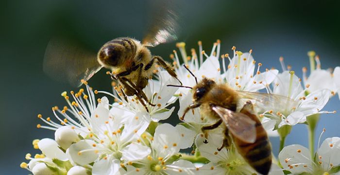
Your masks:
{"label": "rounded white petal just right of the perched bee's abdomen tip", "polygon": [[301,145],[284,147],[279,153],[279,160],[283,168],[289,170],[294,175],[308,172],[313,166],[309,150]]}

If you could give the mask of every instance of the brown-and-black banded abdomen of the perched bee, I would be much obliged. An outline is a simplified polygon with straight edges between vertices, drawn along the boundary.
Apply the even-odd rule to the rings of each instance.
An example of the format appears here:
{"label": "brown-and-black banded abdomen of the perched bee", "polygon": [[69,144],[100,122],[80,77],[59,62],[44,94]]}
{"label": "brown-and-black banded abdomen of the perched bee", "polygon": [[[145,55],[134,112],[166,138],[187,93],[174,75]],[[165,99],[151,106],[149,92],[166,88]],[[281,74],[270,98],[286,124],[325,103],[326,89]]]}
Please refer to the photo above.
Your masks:
{"label": "brown-and-black banded abdomen of the perched bee", "polygon": [[268,139],[267,132],[256,115],[246,109],[242,109],[240,112],[246,114],[256,122],[256,140],[254,143],[246,143],[233,137],[238,153],[258,173],[268,175],[272,165],[272,146]]}

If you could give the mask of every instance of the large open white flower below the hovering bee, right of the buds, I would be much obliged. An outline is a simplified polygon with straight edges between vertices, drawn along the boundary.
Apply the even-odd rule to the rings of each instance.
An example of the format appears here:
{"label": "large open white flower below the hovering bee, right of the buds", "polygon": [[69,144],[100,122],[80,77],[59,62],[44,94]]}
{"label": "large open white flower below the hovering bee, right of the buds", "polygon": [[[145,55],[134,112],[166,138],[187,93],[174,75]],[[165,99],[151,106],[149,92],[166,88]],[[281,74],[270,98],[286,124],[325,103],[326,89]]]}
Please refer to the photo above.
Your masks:
{"label": "large open white flower below the hovering bee, right of the buds", "polygon": [[72,162],[79,165],[95,162],[92,174],[117,173],[119,169],[114,167],[119,167],[119,164],[115,165],[115,162],[132,160],[128,156],[131,154],[129,149],[132,146],[134,151],[140,153],[139,157],[135,154],[134,158],[141,159],[149,154],[146,146],[132,143],[139,139],[149,125],[143,115],[121,123],[122,119],[119,116],[111,116],[108,101],[103,97],[100,105],[93,111],[90,121],[92,130],[88,135],[89,139],[72,144],[67,154]]}

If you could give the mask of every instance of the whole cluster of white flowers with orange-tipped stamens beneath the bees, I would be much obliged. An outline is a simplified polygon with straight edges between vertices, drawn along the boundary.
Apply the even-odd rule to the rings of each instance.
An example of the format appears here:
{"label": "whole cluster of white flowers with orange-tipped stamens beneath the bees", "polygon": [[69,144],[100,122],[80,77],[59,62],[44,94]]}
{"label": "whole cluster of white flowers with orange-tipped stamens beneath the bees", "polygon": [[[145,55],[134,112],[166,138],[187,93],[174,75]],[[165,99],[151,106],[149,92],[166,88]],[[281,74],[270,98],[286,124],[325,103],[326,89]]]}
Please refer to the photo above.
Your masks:
{"label": "whole cluster of white flowers with orange-tipped stamens beneath the bees", "polygon": [[[254,160],[238,152],[238,137],[226,132],[228,124],[203,131],[202,127],[214,125],[217,120],[202,115],[199,107],[186,110],[195,93],[190,87],[208,78],[238,94],[235,113],[249,101],[260,121],[257,125],[262,125],[269,136],[280,136],[283,142],[279,162],[273,161],[268,174],[284,175],[283,170],[296,175],[339,174],[340,138],[326,139],[316,153],[301,145],[283,145],[292,126],[310,125],[313,116],[335,113],[322,109],[329,98],[340,92],[340,67],[333,72],[322,70],[319,57],[310,52],[311,73],[307,77],[304,68],[300,79],[290,67],[286,69],[283,58],[283,71],[279,72],[261,69],[263,65],[255,62],[252,50],[242,53],[233,47],[232,56],[221,54],[218,40],[208,55],[202,42],[198,45],[199,54],[191,49],[188,56],[185,43],[178,43],[183,59],[176,51],[170,55],[178,79],[187,88],[167,86],[177,85],[178,81],[157,68],[155,78],[143,89],[150,104],[155,104],[146,104],[148,111],[136,96],[124,97],[123,88],[114,82],[112,92],[93,90],[85,81],[85,88],[63,92],[67,106],[52,107],[53,118],[38,115],[44,124],[37,124],[37,128],[55,131],[54,140],[34,140],[34,148],[41,154],[27,154],[29,163],[23,162],[20,167],[34,175],[258,174],[250,164]],[[325,83],[320,83],[321,78]],[[98,94],[103,97],[96,99]],[[181,123],[172,126],[164,120],[175,110],[177,100]],[[226,145],[227,138],[231,139],[230,145]]]}

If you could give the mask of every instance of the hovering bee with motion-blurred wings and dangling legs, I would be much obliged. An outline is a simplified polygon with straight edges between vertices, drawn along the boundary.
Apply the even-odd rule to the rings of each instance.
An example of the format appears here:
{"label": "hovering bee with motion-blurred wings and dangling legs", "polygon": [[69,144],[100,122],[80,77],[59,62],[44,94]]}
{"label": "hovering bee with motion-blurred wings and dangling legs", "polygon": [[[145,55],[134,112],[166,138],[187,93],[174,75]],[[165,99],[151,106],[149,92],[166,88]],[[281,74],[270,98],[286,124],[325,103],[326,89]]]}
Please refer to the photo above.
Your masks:
{"label": "hovering bee with motion-blurred wings and dangling legs", "polygon": [[119,37],[105,43],[94,54],[68,41],[51,39],[45,52],[44,71],[52,78],[68,80],[70,84],[80,86],[81,80],[87,81],[103,67],[110,69],[112,73],[108,74],[122,86],[125,100],[126,96],[136,95],[138,101],[149,111],[146,103],[153,104],[142,89],[155,72],[155,64],[178,80],[170,65],[162,57],[152,56],[148,49],[177,39],[176,14],[169,9],[169,4],[157,2],[151,27],[142,42],[130,37]]}

